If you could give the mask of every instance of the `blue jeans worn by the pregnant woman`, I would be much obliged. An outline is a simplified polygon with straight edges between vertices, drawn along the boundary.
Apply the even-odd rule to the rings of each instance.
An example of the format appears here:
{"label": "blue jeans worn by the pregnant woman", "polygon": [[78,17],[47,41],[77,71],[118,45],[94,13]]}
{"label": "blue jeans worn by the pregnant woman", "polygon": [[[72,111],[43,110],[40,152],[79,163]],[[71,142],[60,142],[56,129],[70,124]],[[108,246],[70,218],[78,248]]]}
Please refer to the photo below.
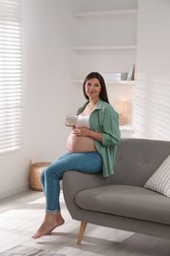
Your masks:
{"label": "blue jeans worn by the pregnant woman", "polygon": [[45,168],[40,180],[45,195],[46,213],[60,212],[60,180],[65,171],[74,169],[85,173],[98,173],[101,171],[101,165],[102,160],[97,152],[66,153]]}

